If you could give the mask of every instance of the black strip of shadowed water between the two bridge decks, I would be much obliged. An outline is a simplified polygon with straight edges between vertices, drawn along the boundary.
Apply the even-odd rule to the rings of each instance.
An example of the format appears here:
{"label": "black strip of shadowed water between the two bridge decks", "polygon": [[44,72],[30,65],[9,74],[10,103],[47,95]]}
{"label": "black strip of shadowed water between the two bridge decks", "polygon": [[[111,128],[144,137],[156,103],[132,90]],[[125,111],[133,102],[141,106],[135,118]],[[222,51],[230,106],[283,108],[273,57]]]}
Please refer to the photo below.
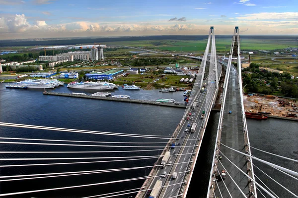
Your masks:
{"label": "black strip of shadowed water between the two bridge decks", "polygon": [[206,198],[220,112],[212,111],[190,182],[187,198]]}

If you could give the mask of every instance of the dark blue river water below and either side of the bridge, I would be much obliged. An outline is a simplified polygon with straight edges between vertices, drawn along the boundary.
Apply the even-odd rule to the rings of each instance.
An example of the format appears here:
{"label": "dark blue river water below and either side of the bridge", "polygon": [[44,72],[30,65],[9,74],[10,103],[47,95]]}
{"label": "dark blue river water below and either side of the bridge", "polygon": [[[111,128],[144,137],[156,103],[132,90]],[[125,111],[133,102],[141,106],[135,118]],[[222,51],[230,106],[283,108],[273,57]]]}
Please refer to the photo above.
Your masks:
{"label": "dark blue river water below and either side of the bridge", "polygon": [[[41,125],[50,127],[62,127],[73,129],[84,129],[94,131],[107,131],[117,133],[131,134],[147,134],[147,135],[171,135],[177,124],[181,120],[184,109],[155,106],[149,104],[122,103],[106,100],[80,99],[57,96],[44,96],[43,90],[14,90],[5,89],[5,83],[0,84],[0,121]],[[71,93],[74,90],[67,89],[66,86],[55,88],[56,92]],[[74,92],[94,93],[93,91],[75,90]],[[150,91],[130,91],[118,89],[113,91],[115,94],[130,95],[132,99],[175,99],[183,102],[183,92],[160,93],[158,90]],[[198,163],[195,168],[193,180],[188,197],[206,197],[207,186],[209,180],[209,172],[212,163],[212,154],[214,149],[214,140],[216,137],[216,128],[218,125],[218,112],[212,112],[208,122],[208,128],[198,157]],[[266,121],[247,120],[249,129],[249,137],[251,145],[264,149],[269,152],[281,154],[291,158],[298,158],[298,123],[295,121],[268,119]],[[37,129],[23,129],[12,127],[0,127],[1,137],[6,138],[34,138],[34,139],[53,139],[53,140],[80,140],[80,141],[107,141],[107,142],[151,142],[154,144],[138,146],[159,146],[164,147],[164,140],[144,139],[119,136],[103,136],[95,134],[70,133],[59,131],[45,131]],[[10,142],[36,142],[26,140],[8,140]],[[45,143],[45,142],[43,142]],[[49,143],[49,142],[47,142]],[[53,143],[53,142],[51,142]],[[61,142],[54,142],[56,144]],[[64,143],[64,144],[89,144],[94,143]],[[111,144],[101,144],[111,145]],[[117,144],[118,145],[118,144]],[[125,145],[125,144],[122,144]],[[145,149],[145,148],[139,148]],[[154,149],[154,148],[148,148]],[[45,145],[21,145],[21,144],[0,144],[2,151],[112,151],[118,150],[116,153],[1,153],[0,158],[48,158],[48,157],[113,157],[126,156],[123,150],[138,150],[138,148],[125,147],[75,147],[75,146],[45,146]],[[273,160],[271,162],[285,166],[297,171],[297,163],[287,162],[276,157],[270,157],[259,151],[253,150],[256,156]],[[130,156],[140,155],[157,155],[159,151],[131,152]],[[89,164],[73,164],[73,165],[47,165],[47,166],[17,166],[17,167],[1,167],[0,175],[24,175],[24,174],[40,174],[40,173],[58,173],[72,171],[88,171],[103,170],[113,168],[128,168],[137,166],[153,165],[156,159],[135,160],[126,162],[106,162],[106,163],[89,163]],[[1,160],[0,165],[16,165],[16,164],[35,164],[35,163],[59,163],[59,162],[77,162],[82,160]],[[88,161],[88,160],[83,160]],[[96,159],[89,161],[98,161]],[[272,170],[267,166],[255,162],[263,171],[271,173]],[[20,181],[6,181],[0,183],[0,193],[11,193],[30,191],[38,189],[50,189],[57,187],[68,187],[75,185],[85,185],[92,183],[100,183],[125,178],[142,177],[149,173],[146,168],[101,173],[88,174],[69,177],[57,177],[47,179],[30,179]],[[255,170],[257,176],[266,181],[266,184],[272,185],[273,189],[280,189],[267,181],[267,177],[261,175]],[[271,175],[271,174],[270,174]],[[288,186],[289,189],[297,193],[297,188],[288,176],[284,177],[274,172],[274,177]],[[198,179],[199,178],[199,179]],[[286,178],[286,179],[285,179]],[[7,178],[6,178],[7,179]],[[123,191],[128,189],[139,188],[144,180],[136,180],[132,182],[122,182],[116,184],[105,184],[97,186],[89,186],[84,188],[75,188],[67,190],[56,190],[41,193],[30,193],[24,195],[12,196],[15,198],[52,198],[52,197],[85,197],[94,196],[115,191]],[[196,188],[193,187],[196,186]],[[287,195],[283,190],[278,191],[281,197]],[[123,196],[127,198],[130,195]]]}

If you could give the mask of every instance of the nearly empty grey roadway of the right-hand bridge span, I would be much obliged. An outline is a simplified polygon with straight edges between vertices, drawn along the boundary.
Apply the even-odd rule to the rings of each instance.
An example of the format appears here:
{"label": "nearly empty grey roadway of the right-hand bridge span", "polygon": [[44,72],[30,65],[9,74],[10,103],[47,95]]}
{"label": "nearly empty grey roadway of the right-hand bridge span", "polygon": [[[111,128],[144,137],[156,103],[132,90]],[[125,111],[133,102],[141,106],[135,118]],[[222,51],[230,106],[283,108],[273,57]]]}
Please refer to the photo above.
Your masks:
{"label": "nearly empty grey roadway of the right-hand bridge span", "polygon": [[[241,99],[239,94],[239,81],[237,72],[234,66],[231,66],[228,90],[226,94],[225,107],[224,107],[224,121],[221,137],[221,141],[224,145],[237,149],[241,152],[245,152],[245,140],[243,132],[243,122],[241,114]],[[232,111],[232,114],[228,114],[229,111]],[[246,157],[235,151],[232,151],[229,148],[221,147],[220,150],[228,157],[234,164],[236,164],[242,171],[247,172]],[[221,160],[226,171],[230,174],[231,178],[237,183],[243,193],[249,197],[249,184],[248,178],[242,174],[234,165],[232,165],[224,156]],[[224,169],[221,163],[218,162],[219,171]],[[218,175],[218,174],[217,174]],[[219,176],[218,176],[219,177]],[[217,178],[218,178],[217,177]],[[231,180],[229,176],[226,176],[224,183],[227,186],[228,191],[230,192],[233,198],[243,197]],[[229,194],[225,189],[224,183],[218,178],[218,188],[215,190],[217,197],[220,196],[221,191],[223,198],[229,198]]]}

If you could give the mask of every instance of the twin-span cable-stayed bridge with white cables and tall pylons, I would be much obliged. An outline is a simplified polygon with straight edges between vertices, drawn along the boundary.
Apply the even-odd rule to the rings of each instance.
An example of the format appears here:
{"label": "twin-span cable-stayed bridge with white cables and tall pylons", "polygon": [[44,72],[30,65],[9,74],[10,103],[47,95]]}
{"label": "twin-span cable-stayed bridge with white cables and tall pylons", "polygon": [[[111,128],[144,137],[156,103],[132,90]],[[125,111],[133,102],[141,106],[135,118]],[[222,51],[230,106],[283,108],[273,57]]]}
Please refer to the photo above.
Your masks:
{"label": "twin-span cable-stayed bridge with white cables and tall pylons", "polygon": [[[210,46],[211,45],[211,46]],[[217,145],[215,146],[214,155],[214,165],[211,171],[210,185],[208,188],[208,197],[257,197],[255,187],[255,177],[253,172],[253,160],[255,159],[251,156],[250,143],[248,139],[248,131],[246,126],[246,120],[243,108],[242,99],[242,84],[241,84],[241,70],[240,70],[240,40],[239,40],[239,29],[238,27],[234,30],[234,36],[232,39],[231,50],[229,53],[228,62],[224,62],[226,65],[226,77],[224,81],[224,97],[223,105],[221,109],[220,122],[218,127],[218,137]],[[231,62],[232,57],[237,58],[237,68],[235,68]],[[196,57],[194,57],[196,58]],[[31,180],[31,179],[43,179],[43,178],[56,178],[68,177],[74,175],[85,175],[90,174],[100,174],[100,173],[110,173],[129,171],[129,170],[148,170],[148,174],[142,177],[127,178],[122,180],[113,180],[110,178],[107,182],[91,183],[77,186],[62,186],[59,188],[48,188],[48,189],[37,189],[26,192],[11,192],[0,194],[0,196],[18,196],[29,193],[38,192],[49,192],[65,189],[74,188],[87,188],[89,186],[98,185],[109,185],[124,182],[133,181],[145,181],[143,186],[136,189],[130,189],[125,191],[119,191],[115,189],[115,192],[108,194],[101,194],[89,196],[91,197],[136,197],[145,198],[149,197],[148,192],[157,192],[156,197],[158,198],[175,198],[175,197],[186,197],[189,184],[192,179],[193,170],[197,162],[197,157],[199,150],[201,148],[201,143],[203,141],[206,125],[210,115],[212,105],[216,99],[219,78],[222,73],[222,66],[217,61],[216,55],[216,43],[215,43],[215,32],[214,28],[211,27],[209,31],[208,43],[202,58],[201,66],[198,72],[198,76],[194,83],[193,90],[188,100],[184,115],[178,124],[176,130],[172,136],[152,136],[152,135],[140,135],[140,134],[128,134],[128,133],[111,133],[111,132],[99,132],[90,130],[76,130],[76,129],[66,129],[66,128],[54,128],[54,127],[44,127],[44,126],[33,126],[33,125],[23,125],[23,124],[12,124],[12,123],[0,123],[0,126],[7,127],[21,127],[37,130],[54,130],[54,131],[64,131],[71,133],[83,133],[83,134],[95,134],[95,135],[105,135],[105,136],[118,136],[118,137],[131,137],[131,138],[143,138],[143,139],[158,139],[160,144],[166,144],[165,147],[160,146],[150,146],[150,142],[96,142],[96,141],[66,141],[66,140],[53,140],[49,139],[24,139],[24,138],[1,138],[3,140],[2,144],[16,144],[16,145],[51,145],[51,146],[73,146],[73,147],[90,147],[90,148],[136,148],[140,150],[122,150],[125,153],[140,153],[134,156],[115,156],[115,157],[40,157],[40,158],[1,158],[1,160],[20,160],[20,161],[30,161],[30,160],[100,160],[100,161],[79,161],[79,162],[57,162],[57,163],[27,163],[22,165],[0,165],[0,167],[22,167],[22,166],[53,166],[53,165],[71,165],[71,164],[82,164],[82,163],[111,163],[111,162],[128,162],[133,160],[146,160],[149,158],[157,159],[154,164],[149,164],[148,166],[139,167],[126,167],[126,168],[108,168],[104,170],[85,170],[85,171],[68,171],[60,173],[43,173],[43,174],[27,174],[27,175],[11,175],[11,176],[1,176],[0,182],[7,181],[19,181],[19,180]],[[206,83],[206,87],[204,84]],[[194,105],[195,104],[195,105]],[[231,110],[231,114],[228,112]],[[203,113],[204,111],[204,113]],[[188,119],[189,117],[189,119]],[[192,129],[194,123],[197,124],[195,128]],[[188,127],[189,125],[189,127]],[[188,129],[186,131],[186,129]],[[5,140],[5,141],[4,141]],[[17,142],[13,142],[17,141]],[[28,143],[28,141],[31,141]],[[44,141],[46,143],[37,143],[34,141]],[[172,148],[172,143],[175,143],[175,147]],[[119,143],[121,146],[119,146]],[[156,143],[156,142],[155,142]],[[83,145],[82,145],[83,144]],[[94,145],[94,144],[110,144],[110,145]],[[142,144],[142,146],[138,146]],[[136,146],[134,146],[136,145]],[[232,150],[235,149],[235,150]],[[157,155],[146,155],[145,151],[157,151]],[[161,151],[161,153],[160,153]],[[237,152],[238,151],[238,152]],[[239,153],[240,151],[240,153]],[[72,151],[31,151],[34,153],[72,153]],[[77,151],[73,151],[78,153]],[[117,151],[89,151],[89,153],[112,153]],[[170,152],[170,158],[167,160],[165,167],[162,168],[161,161],[166,155],[166,152]],[[18,152],[1,152],[1,153],[30,153],[30,151],[18,151]],[[246,155],[245,155],[246,154]],[[253,158],[253,159],[252,159]],[[230,160],[230,161],[229,161]],[[171,164],[168,163],[171,161]],[[297,160],[296,160],[297,162]],[[272,165],[272,164],[271,164]],[[237,169],[236,166],[240,169]],[[277,169],[282,169],[282,167],[276,166]],[[149,169],[151,171],[149,172]],[[222,170],[225,170],[225,179],[222,178],[220,174]],[[245,176],[241,170],[247,174],[250,178]],[[289,171],[288,169],[282,169],[287,172],[287,174],[292,174],[297,177],[297,173],[294,171]],[[165,172],[165,173],[164,173]],[[176,179],[173,179],[174,173],[177,173]],[[293,177],[293,176],[292,176]],[[196,178],[197,179],[197,178]],[[224,180],[224,181],[223,181]],[[161,181],[160,188],[156,188],[155,184],[157,181]],[[261,189],[261,187],[259,187]],[[158,190],[158,191],[157,191]],[[262,189],[264,190],[264,189]],[[265,190],[264,190],[265,191]],[[267,190],[266,190],[267,191]],[[266,192],[265,191],[265,192]],[[267,192],[266,192],[267,193]],[[271,197],[272,193],[268,192]],[[294,195],[295,196],[295,195]],[[277,197],[274,196],[273,197]]]}

